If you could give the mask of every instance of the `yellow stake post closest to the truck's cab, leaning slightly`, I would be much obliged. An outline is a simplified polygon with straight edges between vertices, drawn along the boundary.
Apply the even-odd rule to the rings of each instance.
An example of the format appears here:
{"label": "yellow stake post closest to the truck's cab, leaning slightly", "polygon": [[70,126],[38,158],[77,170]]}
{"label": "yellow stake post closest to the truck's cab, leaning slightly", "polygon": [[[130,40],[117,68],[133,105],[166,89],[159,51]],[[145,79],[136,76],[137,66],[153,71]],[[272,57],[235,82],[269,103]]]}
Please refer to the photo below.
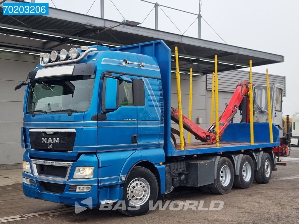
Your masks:
{"label": "yellow stake post closest to the truck's cab, leaning slightly", "polygon": [[180,80],[180,73],[179,73],[178,47],[175,47],[175,54],[176,54],[176,86],[177,86],[177,91],[178,91],[178,106],[179,106],[180,145],[181,145],[181,150],[184,150],[183,116],[182,116],[182,100],[181,100],[181,80]]}

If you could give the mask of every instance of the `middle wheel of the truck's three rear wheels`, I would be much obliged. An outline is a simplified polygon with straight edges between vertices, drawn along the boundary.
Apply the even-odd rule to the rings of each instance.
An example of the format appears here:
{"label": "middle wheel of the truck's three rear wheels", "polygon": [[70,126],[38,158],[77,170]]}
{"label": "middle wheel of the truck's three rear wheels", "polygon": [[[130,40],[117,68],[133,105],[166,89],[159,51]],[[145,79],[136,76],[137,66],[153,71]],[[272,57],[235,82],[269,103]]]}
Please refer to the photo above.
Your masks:
{"label": "middle wheel of the truck's three rear wheels", "polygon": [[234,187],[235,188],[250,188],[254,178],[254,164],[250,156],[243,155],[240,167],[239,175],[235,175]]}

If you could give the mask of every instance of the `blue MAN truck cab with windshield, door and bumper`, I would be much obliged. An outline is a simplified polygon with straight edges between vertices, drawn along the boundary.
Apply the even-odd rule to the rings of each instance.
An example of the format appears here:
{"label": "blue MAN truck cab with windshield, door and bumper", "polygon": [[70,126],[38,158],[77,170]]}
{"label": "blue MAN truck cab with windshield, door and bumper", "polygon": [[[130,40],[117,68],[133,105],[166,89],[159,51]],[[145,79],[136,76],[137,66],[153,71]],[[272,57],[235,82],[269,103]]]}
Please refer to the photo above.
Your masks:
{"label": "blue MAN truck cab with windshield, door and bumper", "polygon": [[91,197],[95,207],[118,199],[133,165],[165,161],[161,76],[150,56],[99,46],[73,51],[80,63],[41,62],[22,84],[23,189],[71,205]]}

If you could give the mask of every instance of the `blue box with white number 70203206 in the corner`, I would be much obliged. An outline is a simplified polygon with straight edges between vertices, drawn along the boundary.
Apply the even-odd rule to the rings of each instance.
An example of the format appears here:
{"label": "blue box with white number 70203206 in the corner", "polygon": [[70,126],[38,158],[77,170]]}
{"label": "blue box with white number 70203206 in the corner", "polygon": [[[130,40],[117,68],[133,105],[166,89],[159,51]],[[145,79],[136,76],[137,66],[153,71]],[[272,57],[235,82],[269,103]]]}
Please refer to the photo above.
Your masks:
{"label": "blue box with white number 70203206 in the corner", "polygon": [[49,3],[3,3],[3,15],[49,15]]}

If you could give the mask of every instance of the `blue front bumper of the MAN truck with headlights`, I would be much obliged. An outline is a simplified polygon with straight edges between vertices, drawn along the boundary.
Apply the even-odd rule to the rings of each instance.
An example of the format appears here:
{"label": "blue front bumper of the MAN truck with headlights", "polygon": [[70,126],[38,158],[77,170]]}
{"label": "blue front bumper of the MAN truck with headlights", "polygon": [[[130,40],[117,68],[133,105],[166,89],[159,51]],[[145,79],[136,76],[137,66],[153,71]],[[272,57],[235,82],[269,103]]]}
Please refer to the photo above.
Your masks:
{"label": "blue front bumper of the MAN truck with headlights", "polygon": [[[24,161],[30,162],[31,173],[23,171],[23,177],[30,180],[30,185],[23,183],[25,196],[52,202],[65,203],[72,206],[96,207],[98,205],[98,160],[94,154],[83,154],[76,162],[72,162],[66,178],[53,178],[36,175],[28,151],[24,153]],[[94,177],[91,179],[73,179],[77,166],[94,166]],[[76,186],[91,186],[89,192],[75,192]],[[83,202],[82,202],[83,201]]]}

